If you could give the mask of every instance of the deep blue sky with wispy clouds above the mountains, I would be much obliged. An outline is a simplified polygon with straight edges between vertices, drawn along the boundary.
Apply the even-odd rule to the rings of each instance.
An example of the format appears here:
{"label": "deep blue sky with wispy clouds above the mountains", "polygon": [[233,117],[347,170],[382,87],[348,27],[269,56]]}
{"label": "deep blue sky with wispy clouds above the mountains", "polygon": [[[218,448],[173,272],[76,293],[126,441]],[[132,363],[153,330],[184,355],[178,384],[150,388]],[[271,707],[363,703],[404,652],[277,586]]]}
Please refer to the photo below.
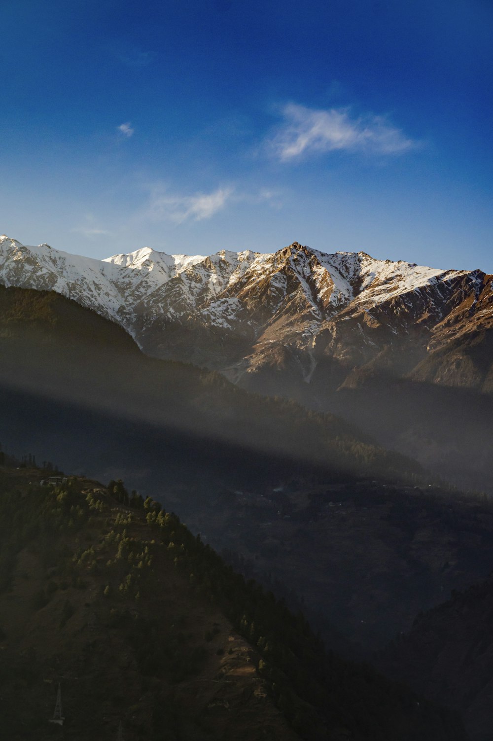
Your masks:
{"label": "deep blue sky with wispy clouds above the mountains", "polygon": [[0,233],[493,272],[491,0],[2,0]]}

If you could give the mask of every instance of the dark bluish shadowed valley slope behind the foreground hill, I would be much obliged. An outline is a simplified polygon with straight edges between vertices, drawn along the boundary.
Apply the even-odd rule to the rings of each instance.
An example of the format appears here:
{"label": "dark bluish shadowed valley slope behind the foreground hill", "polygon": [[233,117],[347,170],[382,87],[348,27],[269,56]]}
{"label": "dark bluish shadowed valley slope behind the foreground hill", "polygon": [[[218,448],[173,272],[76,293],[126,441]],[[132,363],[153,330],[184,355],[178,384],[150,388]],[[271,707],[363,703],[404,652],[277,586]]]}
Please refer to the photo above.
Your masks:
{"label": "dark bluish shadowed valley slope behind the foreground hill", "polygon": [[[365,480],[300,483],[282,494],[229,492],[207,513],[184,514],[235,568],[294,599],[339,651],[381,648],[493,570],[489,502]],[[186,501],[183,491],[171,498]]]}

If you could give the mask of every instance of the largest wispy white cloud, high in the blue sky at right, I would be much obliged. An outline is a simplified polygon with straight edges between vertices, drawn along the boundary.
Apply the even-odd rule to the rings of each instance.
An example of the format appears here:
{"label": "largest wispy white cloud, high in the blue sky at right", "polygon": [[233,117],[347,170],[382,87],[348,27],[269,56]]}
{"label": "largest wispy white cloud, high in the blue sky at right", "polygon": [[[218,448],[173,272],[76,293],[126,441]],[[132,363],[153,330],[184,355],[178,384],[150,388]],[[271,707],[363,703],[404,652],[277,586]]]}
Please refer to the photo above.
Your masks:
{"label": "largest wispy white cloud, high in the blue sky at right", "polygon": [[335,150],[392,155],[415,147],[383,116],[351,118],[347,108],[317,110],[290,103],[282,108],[284,123],[268,141],[282,162]]}

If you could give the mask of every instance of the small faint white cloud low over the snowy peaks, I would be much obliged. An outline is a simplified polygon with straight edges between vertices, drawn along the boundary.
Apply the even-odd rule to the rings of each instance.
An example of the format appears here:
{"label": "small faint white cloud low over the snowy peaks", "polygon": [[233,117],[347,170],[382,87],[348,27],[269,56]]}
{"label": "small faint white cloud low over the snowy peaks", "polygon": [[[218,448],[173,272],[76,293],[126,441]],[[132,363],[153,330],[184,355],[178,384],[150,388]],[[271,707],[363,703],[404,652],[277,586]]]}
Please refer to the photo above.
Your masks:
{"label": "small faint white cloud low over the snowy peaks", "polygon": [[170,196],[161,189],[150,197],[149,215],[156,220],[167,219],[182,224],[187,219],[199,222],[210,219],[221,210],[233,193],[232,188],[219,187],[213,193],[196,193],[194,196]]}

